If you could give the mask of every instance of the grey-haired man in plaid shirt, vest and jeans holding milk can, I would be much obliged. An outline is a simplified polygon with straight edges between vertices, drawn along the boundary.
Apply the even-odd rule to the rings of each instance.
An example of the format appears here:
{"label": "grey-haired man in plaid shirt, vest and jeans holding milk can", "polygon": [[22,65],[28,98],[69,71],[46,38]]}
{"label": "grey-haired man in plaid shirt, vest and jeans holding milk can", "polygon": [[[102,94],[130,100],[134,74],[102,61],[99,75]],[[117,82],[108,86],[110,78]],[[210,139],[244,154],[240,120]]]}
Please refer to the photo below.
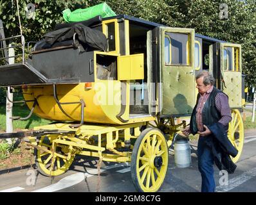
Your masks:
{"label": "grey-haired man in plaid shirt, vest and jeans holding milk can", "polygon": [[197,103],[194,107],[190,127],[183,129],[184,135],[199,134],[197,146],[198,169],[201,173],[201,192],[215,192],[214,154],[209,146],[214,138],[210,126],[221,124],[228,131],[228,123],[232,120],[228,96],[214,87],[215,79],[207,71],[196,76]]}

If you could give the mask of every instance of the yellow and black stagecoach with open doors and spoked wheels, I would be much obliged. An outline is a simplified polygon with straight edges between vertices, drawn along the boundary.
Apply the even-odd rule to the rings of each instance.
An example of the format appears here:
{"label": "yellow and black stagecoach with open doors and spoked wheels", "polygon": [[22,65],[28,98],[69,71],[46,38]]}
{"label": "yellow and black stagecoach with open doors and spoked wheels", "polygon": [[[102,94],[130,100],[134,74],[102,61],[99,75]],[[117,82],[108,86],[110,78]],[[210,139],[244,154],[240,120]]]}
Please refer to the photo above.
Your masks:
{"label": "yellow and black stagecoach with open doors and spoked wheels", "polygon": [[[136,189],[158,191],[174,133],[187,126],[196,104],[195,76],[201,70],[212,72],[215,86],[228,94],[228,138],[239,151],[233,161],[239,159],[244,140],[241,45],[127,15],[79,23],[57,25],[51,34],[74,32],[65,40],[48,35],[55,42],[37,42],[27,59],[24,37],[12,37],[21,39],[23,61],[0,67],[0,85],[21,87],[30,115],[55,121],[1,135],[26,136],[41,174],[63,174],[80,154],[131,162]],[[85,32],[75,32],[81,28],[95,41],[82,42]]]}

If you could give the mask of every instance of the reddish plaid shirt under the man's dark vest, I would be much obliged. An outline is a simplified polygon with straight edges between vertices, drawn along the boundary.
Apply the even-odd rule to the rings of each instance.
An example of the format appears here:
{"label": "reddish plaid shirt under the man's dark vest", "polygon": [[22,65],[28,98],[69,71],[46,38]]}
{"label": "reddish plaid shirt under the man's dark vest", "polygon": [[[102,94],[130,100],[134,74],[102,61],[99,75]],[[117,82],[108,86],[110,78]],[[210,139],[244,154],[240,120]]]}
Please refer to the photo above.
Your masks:
{"label": "reddish plaid shirt under the man's dark vest", "polygon": [[[214,86],[211,86],[210,89],[205,94],[200,94],[198,100],[198,104],[196,107],[196,124],[197,129],[200,132],[204,130],[202,116],[203,107],[205,106],[205,102],[207,101],[213,89]],[[232,120],[231,110],[228,104],[228,97],[225,94],[219,92],[215,97],[215,106],[219,113],[221,113],[221,119],[218,122],[223,124],[223,126],[226,126]]]}

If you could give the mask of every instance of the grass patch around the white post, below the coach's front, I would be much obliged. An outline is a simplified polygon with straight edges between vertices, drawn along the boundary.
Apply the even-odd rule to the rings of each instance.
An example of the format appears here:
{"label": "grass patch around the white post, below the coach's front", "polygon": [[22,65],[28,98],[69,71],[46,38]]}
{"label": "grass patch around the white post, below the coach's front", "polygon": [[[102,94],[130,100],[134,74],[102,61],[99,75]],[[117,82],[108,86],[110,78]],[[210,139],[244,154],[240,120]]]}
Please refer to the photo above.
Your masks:
{"label": "grass patch around the white post, below the coach's front", "polygon": [[[14,104],[13,116],[26,117],[30,113],[26,104]],[[14,130],[15,129],[32,129],[35,126],[42,126],[49,124],[51,120],[41,119],[37,115],[33,114],[28,120],[14,120]],[[0,131],[6,130],[6,106],[5,104],[0,104]]]}

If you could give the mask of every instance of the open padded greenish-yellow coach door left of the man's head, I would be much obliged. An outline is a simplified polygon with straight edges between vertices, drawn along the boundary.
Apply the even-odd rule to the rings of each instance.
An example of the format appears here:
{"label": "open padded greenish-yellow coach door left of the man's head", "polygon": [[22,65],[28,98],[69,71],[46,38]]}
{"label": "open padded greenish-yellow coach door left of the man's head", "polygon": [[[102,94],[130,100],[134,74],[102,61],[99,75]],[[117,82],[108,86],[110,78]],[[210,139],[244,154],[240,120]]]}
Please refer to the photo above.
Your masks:
{"label": "open padded greenish-yellow coach door left of the man's head", "polygon": [[160,28],[161,114],[185,115],[195,105],[194,29]]}

